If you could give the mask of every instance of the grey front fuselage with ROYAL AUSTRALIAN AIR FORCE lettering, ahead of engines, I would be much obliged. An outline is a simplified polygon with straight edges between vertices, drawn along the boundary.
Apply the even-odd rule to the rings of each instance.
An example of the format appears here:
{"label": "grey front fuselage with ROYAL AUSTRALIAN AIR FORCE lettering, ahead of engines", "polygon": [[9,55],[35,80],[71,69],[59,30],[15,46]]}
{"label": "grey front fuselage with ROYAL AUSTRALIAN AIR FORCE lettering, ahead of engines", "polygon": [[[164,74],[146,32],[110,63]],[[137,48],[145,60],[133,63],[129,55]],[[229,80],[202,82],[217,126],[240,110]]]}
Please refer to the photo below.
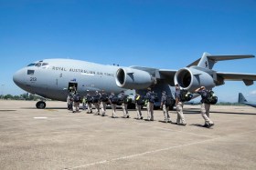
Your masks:
{"label": "grey front fuselage with ROYAL AUSTRALIAN AIR FORCE lettering, ahead of engines", "polygon": [[16,85],[31,94],[66,101],[70,84],[77,84],[80,95],[101,90],[119,94],[123,88],[115,83],[118,69],[116,65],[80,60],[45,59],[20,69],[13,79]]}

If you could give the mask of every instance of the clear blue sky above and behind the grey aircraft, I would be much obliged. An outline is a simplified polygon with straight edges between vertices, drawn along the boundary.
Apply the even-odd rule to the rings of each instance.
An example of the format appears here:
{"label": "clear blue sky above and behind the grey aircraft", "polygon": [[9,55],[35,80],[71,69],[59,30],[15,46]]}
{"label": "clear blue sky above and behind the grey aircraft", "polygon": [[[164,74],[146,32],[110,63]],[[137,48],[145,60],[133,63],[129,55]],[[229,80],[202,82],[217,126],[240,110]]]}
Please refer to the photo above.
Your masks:
{"label": "clear blue sky above and behind the grey aircraft", "polygon": [[[255,0],[0,0],[0,87],[24,93],[13,74],[45,58],[179,69],[203,52],[256,55]],[[219,62],[223,72],[256,74],[256,58]],[[214,91],[256,101],[256,85]],[[1,95],[2,95],[1,94]]]}

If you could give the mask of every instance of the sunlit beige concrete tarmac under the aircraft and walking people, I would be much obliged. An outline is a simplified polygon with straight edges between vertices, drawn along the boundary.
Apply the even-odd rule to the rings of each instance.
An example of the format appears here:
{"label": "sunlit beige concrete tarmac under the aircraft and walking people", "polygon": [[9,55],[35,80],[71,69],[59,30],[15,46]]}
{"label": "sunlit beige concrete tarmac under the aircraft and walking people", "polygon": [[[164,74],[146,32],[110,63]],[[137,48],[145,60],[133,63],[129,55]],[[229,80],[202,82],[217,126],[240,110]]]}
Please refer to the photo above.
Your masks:
{"label": "sunlit beige concrete tarmac under the aircraft and walking people", "polygon": [[[0,100],[0,169],[256,169],[256,109],[212,105],[202,127],[199,105],[185,105],[186,126],[80,113],[64,102]],[[171,111],[176,122],[176,112]],[[146,117],[146,111],[143,111]]]}

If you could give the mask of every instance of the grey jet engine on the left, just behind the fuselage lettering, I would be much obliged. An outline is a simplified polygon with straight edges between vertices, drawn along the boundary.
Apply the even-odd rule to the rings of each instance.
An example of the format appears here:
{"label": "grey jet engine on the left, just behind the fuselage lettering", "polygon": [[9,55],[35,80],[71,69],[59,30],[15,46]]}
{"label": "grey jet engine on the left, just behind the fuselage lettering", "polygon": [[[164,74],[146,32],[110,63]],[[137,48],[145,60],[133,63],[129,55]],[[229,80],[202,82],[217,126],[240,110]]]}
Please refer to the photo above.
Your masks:
{"label": "grey jet engine on the left, just behind the fuselage lettering", "polygon": [[155,79],[143,70],[125,67],[117,70],[115,82],[127,89],[144,89],[152,85]]}

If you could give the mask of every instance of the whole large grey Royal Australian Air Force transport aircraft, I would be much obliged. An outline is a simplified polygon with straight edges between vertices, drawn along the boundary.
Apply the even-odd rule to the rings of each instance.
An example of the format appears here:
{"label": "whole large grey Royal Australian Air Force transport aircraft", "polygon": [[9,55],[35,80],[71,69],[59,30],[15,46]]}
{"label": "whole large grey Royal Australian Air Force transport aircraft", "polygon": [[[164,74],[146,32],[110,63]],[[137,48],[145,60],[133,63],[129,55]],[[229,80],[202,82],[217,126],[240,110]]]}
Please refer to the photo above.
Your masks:
{"label": "whole large grey Royal Australian Air Force transport aircraft", "polygon": [[[31,94],[59,101],[67,100],[69,86],[73,85],[80,95],[100,90],[117,95],[123,89],[133,89],[144,95],[145,89],[151,87],[160,98],[163,90],[167,95],[173,95],[176,84],[190,92],[202,85],[208,89],[224,85],[224,80],[243,81],[245,85],[253,85],[256,75],[212,70],[218,61],[251,57],[254,55],[204,53],[197,61],[179,70],[99,65],[73,59],[44,59],[20,69],[13,79],[16,85]],[[160,105],[160,102],[155,105]],[[37,108],[45,107],[44,101],[37,102]]]}

